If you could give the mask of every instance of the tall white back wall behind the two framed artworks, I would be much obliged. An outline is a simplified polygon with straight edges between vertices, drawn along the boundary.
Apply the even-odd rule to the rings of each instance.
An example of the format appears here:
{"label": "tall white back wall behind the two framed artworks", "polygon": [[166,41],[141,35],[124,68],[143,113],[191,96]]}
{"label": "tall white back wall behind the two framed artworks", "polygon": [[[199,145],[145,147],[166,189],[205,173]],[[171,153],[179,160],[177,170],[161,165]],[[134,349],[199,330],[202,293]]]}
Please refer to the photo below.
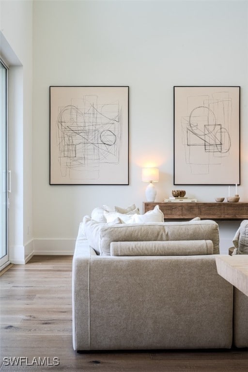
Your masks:
{"label": "tall white back wall behind the two framed artworks", "polygon": [[[173,86],[241,86],[241,201],[248,201],[248,3],[35,1],[33,4],[34,236],[77,235],[103,203],[142,209],[141,168],[160,170],[156,201],[173,186]],[[130,86],[130,185],[49,186],[49,85]],[[178,186],[176,186],[178,188]],[[180,187],[182,188],[182,187]],[[185,186],[212,202],[227,186]],[[239,223],[221,223],[227,247]],[[231,229],[231,233],[230,233]]]}

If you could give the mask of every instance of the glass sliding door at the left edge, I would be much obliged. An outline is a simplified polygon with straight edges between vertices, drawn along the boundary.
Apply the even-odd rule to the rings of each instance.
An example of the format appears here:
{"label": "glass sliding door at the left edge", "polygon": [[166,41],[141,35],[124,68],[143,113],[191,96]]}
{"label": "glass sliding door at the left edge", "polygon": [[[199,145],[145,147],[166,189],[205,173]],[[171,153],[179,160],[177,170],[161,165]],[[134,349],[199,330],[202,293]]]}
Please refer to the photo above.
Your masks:
{"label": "glass sliding door at the left edge", "polygon": [[0,268],[8,254],[8,68],[0,60]]}

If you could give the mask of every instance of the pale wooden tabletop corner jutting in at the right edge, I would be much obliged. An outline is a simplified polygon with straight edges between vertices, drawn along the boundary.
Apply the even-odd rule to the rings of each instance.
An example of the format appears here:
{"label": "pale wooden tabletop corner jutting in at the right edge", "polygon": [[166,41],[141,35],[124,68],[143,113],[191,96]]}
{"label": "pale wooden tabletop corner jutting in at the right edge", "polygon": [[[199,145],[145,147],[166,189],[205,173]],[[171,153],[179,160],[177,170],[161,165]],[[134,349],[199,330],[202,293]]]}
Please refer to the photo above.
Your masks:
{"label": "pale wooden tabletop corner jutting in at the right edge", "polygon": [[216,256],[218,274],[248,296],[248,254]]}

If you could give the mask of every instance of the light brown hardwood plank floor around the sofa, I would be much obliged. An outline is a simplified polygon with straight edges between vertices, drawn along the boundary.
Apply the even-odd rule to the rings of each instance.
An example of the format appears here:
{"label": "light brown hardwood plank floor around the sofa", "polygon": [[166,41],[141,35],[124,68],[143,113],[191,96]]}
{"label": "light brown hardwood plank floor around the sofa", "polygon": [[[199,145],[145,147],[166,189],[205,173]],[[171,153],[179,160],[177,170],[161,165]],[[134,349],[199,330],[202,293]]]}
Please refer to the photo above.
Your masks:
{"label": "light brown hardwood plank floor around the sofa", "polygon": [[71,267],[72,256],[33,256],[0,277],[1,372],[248,372],[248,349],[76,353]]}

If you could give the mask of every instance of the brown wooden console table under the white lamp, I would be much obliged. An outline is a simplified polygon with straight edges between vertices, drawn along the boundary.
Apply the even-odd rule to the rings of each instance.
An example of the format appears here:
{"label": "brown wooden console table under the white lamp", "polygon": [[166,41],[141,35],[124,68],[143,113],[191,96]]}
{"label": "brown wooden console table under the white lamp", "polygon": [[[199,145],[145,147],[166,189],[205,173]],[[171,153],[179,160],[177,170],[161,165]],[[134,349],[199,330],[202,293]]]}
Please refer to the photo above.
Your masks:
{"label": "brown wooden console table under the white lamp", "polygon": [[159,205],[166,219],[248,219],[248,202],[143,202],[144,213]]}

